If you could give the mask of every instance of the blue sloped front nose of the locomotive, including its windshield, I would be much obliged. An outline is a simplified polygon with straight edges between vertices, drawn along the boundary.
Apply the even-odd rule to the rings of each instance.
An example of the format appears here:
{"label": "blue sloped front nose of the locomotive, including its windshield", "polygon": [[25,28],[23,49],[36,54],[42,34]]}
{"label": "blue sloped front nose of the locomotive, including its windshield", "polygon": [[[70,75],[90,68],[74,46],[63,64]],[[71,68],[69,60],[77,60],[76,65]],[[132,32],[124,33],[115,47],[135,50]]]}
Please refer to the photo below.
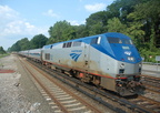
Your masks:
{"label": "blue sloped front nose of the locomotive, including its windshield", "polygon": [[128,63],[141,62],[141,56],[130,38],[119,33],[119,35],[108,37],[107,39],[116,60]]}

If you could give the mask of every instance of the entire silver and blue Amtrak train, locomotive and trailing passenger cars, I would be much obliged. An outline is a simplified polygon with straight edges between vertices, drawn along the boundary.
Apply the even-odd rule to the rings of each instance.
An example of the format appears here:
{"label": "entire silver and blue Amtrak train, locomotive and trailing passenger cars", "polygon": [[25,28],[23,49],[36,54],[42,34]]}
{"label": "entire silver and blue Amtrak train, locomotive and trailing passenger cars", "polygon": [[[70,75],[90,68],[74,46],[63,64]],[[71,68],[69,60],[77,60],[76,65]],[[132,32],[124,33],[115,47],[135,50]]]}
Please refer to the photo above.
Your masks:
{"label": "entire silver and blue Amtrak train, locomotive and trailing passenger cars", "polygon": [[143,91],[141,56],[131,39],[122,33],[80,38],[19,53],[122,96]]}

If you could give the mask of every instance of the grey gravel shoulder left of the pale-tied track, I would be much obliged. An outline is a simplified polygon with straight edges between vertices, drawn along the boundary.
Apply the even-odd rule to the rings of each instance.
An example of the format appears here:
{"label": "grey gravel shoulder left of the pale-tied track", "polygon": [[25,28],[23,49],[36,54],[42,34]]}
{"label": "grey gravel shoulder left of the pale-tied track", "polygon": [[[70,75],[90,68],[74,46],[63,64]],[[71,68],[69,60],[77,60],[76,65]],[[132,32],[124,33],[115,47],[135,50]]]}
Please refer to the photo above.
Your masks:
{"label": "grey gravel shoulder left of the pale-tied track", "polygon": [[52,113],[14,54],[0,59],[0,69],[16,71],[0,73],[0,113]]}

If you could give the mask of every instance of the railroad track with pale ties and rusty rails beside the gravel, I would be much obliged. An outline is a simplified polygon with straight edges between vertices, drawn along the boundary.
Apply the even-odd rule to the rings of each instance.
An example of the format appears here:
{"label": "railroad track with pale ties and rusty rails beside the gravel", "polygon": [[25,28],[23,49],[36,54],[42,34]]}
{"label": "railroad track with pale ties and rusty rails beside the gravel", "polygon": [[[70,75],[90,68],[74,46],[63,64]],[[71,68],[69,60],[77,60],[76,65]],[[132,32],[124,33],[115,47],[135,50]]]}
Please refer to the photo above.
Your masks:
{"label": "railroad track with pale ties and rusty rails beside the gravel", "polygon": [[47,100],[50,101],[54,113],[101,113],[98,109],[67,90],[43,71],[22,60],[21,62],[23,63],[22,66],[33,76],[41,92],[48,96]]}

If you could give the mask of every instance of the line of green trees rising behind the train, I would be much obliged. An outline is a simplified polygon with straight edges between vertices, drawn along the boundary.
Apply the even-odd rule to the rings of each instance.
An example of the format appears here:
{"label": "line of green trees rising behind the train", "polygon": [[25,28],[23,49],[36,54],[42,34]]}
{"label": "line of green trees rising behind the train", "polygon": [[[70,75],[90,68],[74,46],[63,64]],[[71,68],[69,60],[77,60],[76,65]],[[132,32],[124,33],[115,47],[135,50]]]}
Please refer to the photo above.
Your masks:
{"label": "line of green trees rising behind the train", "polygon": [[90,14],[84,24],[71,25],[58,21],[49,28],[49,38],[34,35],[23,38],[9,51],[41,48],[44,44],[67,41],[104,32],[121,32],[129,35],[146,61],[160,55],[160,0],[116,0],[106,10]]}

